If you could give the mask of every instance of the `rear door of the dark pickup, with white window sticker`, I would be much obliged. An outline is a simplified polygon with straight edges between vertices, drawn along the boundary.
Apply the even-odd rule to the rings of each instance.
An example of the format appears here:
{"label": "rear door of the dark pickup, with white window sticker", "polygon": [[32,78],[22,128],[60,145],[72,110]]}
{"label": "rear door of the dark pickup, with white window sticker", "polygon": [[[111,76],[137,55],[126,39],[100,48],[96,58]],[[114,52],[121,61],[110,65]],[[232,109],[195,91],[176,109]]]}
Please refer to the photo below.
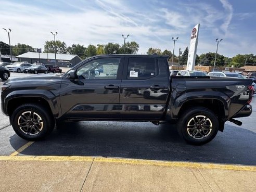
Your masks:
{"label": "rear door of the dark pickup, with white window sticker", "polygon": [[121,119],[161,119],[170,86],[163,57],[126,56],[120,89]]}

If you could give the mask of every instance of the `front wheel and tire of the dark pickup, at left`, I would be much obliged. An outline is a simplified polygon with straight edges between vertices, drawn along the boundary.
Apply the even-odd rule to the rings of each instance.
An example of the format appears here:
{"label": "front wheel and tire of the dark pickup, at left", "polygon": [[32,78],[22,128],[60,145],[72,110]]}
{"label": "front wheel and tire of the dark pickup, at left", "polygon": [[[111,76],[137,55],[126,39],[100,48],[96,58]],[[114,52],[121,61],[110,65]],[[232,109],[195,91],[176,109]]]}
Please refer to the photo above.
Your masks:
{"label": "front wheel and tire of the dark pickup, at left", "polygon": [[11,116],[11,124],[17,135],[26,140],[40,140],[54,129],[54,118],[43,106],[24,104]]}

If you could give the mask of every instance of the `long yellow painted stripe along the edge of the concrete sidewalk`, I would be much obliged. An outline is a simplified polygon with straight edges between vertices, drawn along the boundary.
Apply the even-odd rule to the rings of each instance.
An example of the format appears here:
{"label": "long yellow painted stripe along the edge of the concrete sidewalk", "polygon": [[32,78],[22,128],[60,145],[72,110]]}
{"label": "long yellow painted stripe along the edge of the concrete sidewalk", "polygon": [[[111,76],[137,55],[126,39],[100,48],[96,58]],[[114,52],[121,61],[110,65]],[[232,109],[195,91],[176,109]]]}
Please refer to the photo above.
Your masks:
{"label": "long yellow painted stripe along the edge of the concrete sidewalk", "polygon": [[256,171],[255,166],[214,164],[214,163],[193,163],[175,161],[155,161],[140,159],[118,159],[103,157],[82,157],[82,156],[0,156],[0,161],[93,161],[106,163],[123,163],[136,165],[153,165],[160,167],[188,167],[203,169],[223,169],[235,171]]}

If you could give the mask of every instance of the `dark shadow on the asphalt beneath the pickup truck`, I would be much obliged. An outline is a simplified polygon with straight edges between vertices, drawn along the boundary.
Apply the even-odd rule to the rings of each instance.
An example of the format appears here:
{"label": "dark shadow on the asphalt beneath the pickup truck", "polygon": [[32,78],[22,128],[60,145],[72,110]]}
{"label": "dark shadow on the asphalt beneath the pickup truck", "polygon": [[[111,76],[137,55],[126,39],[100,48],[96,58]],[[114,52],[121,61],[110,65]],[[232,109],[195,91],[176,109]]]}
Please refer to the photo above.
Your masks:
{"label": "dark shadow on the asphalt beneath the pickup truck", "polygon": [[[78,122],[55,129],[45,140],[21,152],[30,156],[102,156],[147,160],[256,165],[256,133],[225,125],[212,142],[186,144],[175,125],[149,122]],[[10,137],[16,150],[23,139]]]}

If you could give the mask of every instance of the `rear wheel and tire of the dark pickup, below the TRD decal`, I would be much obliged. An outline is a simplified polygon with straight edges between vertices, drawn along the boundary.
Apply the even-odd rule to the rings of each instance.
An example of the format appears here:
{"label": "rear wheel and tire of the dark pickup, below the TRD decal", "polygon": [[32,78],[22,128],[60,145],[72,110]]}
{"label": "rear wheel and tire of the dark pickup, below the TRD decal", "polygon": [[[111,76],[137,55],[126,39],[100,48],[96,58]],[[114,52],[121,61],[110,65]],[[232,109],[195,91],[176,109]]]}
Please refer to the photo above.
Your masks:
{"label": "rear wheel and tire of the dark pickup, below the TRD decal", "polygon": [[210,142],[219,130],[216,115],[207,108],[190,108],[177,122],[178,134],[189,144],[203,145]]}

